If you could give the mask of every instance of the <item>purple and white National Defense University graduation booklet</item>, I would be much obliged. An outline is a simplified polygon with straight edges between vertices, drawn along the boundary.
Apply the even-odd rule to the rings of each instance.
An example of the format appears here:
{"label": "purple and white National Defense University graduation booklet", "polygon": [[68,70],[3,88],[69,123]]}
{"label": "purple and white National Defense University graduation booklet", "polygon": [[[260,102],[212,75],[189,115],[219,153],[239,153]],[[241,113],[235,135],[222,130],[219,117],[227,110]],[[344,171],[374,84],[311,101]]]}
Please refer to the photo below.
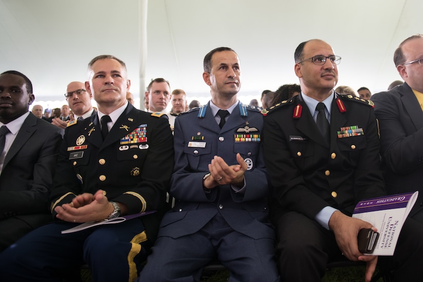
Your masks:
{"label": "purple and white National Defense University graduation booklet", "polygon": [[367,255],[394,254],[399,232],[417,200],[417,195],[418,191],[358,202],[352,217],[371,223],[379,232],[373,253]]}

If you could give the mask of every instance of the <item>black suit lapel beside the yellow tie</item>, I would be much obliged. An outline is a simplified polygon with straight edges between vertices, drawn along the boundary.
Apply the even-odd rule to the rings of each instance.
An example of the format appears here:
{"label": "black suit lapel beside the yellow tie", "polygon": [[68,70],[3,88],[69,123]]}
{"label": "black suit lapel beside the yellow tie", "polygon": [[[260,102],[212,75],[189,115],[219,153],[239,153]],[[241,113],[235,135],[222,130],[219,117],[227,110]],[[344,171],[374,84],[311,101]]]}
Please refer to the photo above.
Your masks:
{"label": "black suit lapel beside the yellow tie", "polygon": [[401,102],[417,130],[423,127],[423,111],[414,95],[413,90],[407,83],[404,83],[398,90],[401,95]]}

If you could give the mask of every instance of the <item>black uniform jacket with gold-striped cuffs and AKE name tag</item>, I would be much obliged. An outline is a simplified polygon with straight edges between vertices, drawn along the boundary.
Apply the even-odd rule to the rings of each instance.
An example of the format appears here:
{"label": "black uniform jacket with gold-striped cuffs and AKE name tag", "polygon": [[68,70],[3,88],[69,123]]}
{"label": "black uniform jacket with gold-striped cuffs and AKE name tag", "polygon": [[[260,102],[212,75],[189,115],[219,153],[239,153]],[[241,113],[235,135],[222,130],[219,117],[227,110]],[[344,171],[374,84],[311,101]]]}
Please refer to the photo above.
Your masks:
{"label": "black uniform jacket with gold-striped cuffs and AKE name tag", "polygon": [[[145,139],[135,139],[144,135]],[[131,143],[126,139],[132,138]],[[173,170],[173,136],[166,118],[128,104],[103,141],[97,115],[68,124],[59,151],[51,211],[81,193],[106,191],[129,214],[164,208]],[[142,217],[154,239],[162,214]]]}

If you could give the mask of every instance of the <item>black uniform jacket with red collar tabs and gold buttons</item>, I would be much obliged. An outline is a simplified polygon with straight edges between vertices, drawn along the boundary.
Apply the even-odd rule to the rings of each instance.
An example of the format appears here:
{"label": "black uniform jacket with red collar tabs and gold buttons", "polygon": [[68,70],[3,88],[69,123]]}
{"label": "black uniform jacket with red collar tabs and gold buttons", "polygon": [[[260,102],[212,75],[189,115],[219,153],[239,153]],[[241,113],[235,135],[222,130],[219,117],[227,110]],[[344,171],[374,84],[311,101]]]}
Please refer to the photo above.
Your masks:
{"label": "black uniform jacket with red collar tabs and gold buttons", "polygon": [[[364,135],[339,138],[337,131],[349,126]],[[326,206],[350,215],[359,200],[385,195],[376,119],[366,100],[336,93],[330,134],[328,147],[301,95],[266,114],[264,156],[276,216],[293,210],[314,219]]]}

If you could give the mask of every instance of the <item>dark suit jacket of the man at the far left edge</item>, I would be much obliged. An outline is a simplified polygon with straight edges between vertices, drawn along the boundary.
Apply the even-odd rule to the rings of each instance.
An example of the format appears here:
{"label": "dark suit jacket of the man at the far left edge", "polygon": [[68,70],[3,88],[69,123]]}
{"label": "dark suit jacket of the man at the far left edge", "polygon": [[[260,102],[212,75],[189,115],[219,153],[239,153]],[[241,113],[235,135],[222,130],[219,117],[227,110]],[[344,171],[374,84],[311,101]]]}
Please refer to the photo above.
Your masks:
{"label": "dark suit jacket of the man at the far left edge", "polygon": [[17,217],[35,228],[39,215],[49,214],[48,198],[61,142],[59,128],[29,113],[0,175],[0,221]]}

